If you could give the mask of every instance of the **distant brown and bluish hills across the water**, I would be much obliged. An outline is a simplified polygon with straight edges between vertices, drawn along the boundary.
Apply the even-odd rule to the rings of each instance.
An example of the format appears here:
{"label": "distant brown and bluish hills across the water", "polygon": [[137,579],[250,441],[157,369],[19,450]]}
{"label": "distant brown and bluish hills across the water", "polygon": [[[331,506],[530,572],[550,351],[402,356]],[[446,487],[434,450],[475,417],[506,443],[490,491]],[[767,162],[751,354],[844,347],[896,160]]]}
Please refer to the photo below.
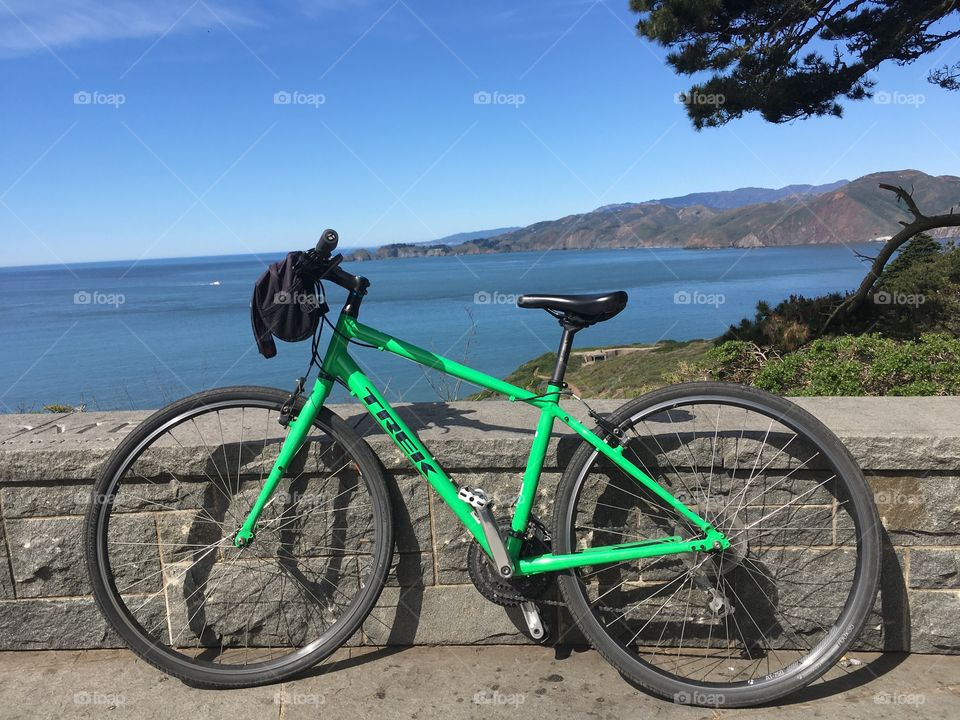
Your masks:
{"label": "distant brown and bluish hills across the water", "polygon": [[[894,195],[877,187],[879,183],[912,188],[920,208],[930,214],[960,209],[960,178],[898,170],[829,185],[798,185],[777,190],[741,188],[726,194],[694,193],[682,198],[607,205],[485,238],[430,246],[386,245],[374,251],[354,253],[352,259],[525,250],[751,248],[864,242],[893,235],[900,227],[898,221],[906,217],[905,209],[897,205]],[[730,209],[707,204],[722,206],[764,194],[778,199]],[[956,233],[955,228],[951,230]]]}

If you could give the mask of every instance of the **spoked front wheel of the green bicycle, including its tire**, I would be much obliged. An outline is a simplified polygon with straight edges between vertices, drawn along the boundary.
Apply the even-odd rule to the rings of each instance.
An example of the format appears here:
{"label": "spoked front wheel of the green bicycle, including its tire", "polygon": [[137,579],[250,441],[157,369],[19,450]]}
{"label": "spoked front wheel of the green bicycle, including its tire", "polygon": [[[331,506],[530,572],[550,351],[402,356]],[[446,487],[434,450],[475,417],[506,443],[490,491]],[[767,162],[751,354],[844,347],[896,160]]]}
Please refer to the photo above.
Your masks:
{"label": "spoked front wheel of the green bicycle, including its tire", "polygon": [[100,609],[144,660],[198,686],[275,682],[319,662],[357,631],[390,568],[381,465],[326,408],[255,539],[234,546],[286,437],[286,399],[240,387],[176,402],[124,439],[94,488]]}

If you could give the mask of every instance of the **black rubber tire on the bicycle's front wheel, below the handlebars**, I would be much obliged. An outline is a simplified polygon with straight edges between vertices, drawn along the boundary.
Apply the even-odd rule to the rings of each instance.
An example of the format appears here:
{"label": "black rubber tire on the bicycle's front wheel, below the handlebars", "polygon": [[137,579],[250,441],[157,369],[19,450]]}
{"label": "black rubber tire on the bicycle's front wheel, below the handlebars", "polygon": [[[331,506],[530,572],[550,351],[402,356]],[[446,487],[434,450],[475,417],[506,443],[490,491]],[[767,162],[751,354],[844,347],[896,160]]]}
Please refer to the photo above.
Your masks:
{"label": "black rubber tire on the bicycle's front wheel, below the handlebars", "polygon": [[[241,688],[262,685],[266,683],[274,683],[284,680],[285,678],[316,665],[318,662],[322,661],[324,658],[333,653],[337,648],[342,646],[357,631],[379,598],[391,566],[391,560],[393,556],[393,523],[389,489],[385,482],[382,465],[380,464],[376,455],[374,455],[373,451],[370,449],[369,445],[367,445],[367,443],[340,417],[335,415],[328,408],[324,407],[320,409],[314,421],[314,431],[332,440],[332,443],[329,444],[327,450],[324,451],[325,453],[329,452],[330,448],[337,448],[338,452],[342,451],[344,453],[344,457],[346,457],[349,462],[355,464],[358,475],[363,480],[362,486],[365,488],[365,492],[369,496],[369,525],[372,529],[371,534],[374,537],[373,548],[369,553],[369,573],[367,576],[365,576],[365,582],[361,581],[359,583],[361,587],[357,591],[357,595],[351,599],[348,605],[345,606],[343,617],[335,619],[329,628],[320,633],[319,637],[314,638],[309,644],[297,649],[295,652],[281,655],[279,658],[274,660],[258,661],[250,663],[249,665],[227,665],[226,663],[218,664],[203,659],[203,653],[200,653],[197,657],[193,658],[185,655],[181,649],[173,647],[176,645],[177,641],[177,638],[173,637],[173,629],[170,629],[167,635],[167,639],[170,641],[169,646],[161,641],[158,641],[158,637],[145,629],[144,625],[142,624],[142,618],[136,617],[131,608],[124,601],[123,593],[119,591],[117,587],[117,576],[111,565],[111,551],[109,546],[110,520],[114,514],[114,506],[124,502],[124,500],[117,497],[117,493],[118,488],[121,491],[123,489],[124,480],[127,479],[127,469],[134,467],[134,463],[138,462],[139,458],[151,457],[147,451],[153,447],[153,442],[162,437],[161,433],[165,431],[165,428],[170,429],[170,435],[173,436],[174,439],[177,439],[173,429],[180,427],[180,425],[177,424],[178,422],[186,423],[184,418],[192,418],[194,425],[198,428],[199,432],[200,426],[197,424],[196,418],[202,417],[203,413],[205,412],[212,412],[213,410],[216,410],[217,419],[221,420],[221,411],[227,412],[228,410],[236,410],[237,408],[254,408],[265,410],[267,418],[270,419],[270,422],[272,423],[273,416],[279,415],[280,409],[287,398],[288,393],[285,393],[281,390],[245,386],[210,390],[179,400],[151,415],[121,442],[121,444],[111,455],[110,459],[107,461],[94,486],[93,495],[86,518],[85,545],[88,571],[93,587],[93,595],[96,599],[97,605],[99,606],[104,617],[107,619],[110,627],[112,627],[113,630],[119,634],[124,642],[137,655],[167,674],[180,678],[181,680],[184,680],[185,682],[197,687]],[[299,409],[302,408],[303,402],[303,399],[300,399],[299,404],[295,407],[295,411],[299,411]],[[242,412],[240,417],[244,418]],[[244,422],[245,421],[241,419],[241,425],[243,425]],[[221,438],[223,437],[223,432],[224,431],[221,428]],[[178,442],[180,441],[178,440]],[[182,444],[181,447],[183,447]],[[226,447],[226,445],[224,445],[224,447]],[[242,459],[244,447],[245,446],[241,434],[241,442],[237,450],[238,487],[240,487],[239,463]],[[266,447],[267,440],[265,436],[264,448]],[[161,451],[162,448],[158,444],[155,454],[160,456],[159,453]],[[211,451],[210,459],[212,460],[213,457],[214,454]],[[232,456],[230,459],[232,460]],[[224,460],[227,460],[226,450],[224,450]],[[268,464],[269,463],[265,463],[265,465]],[[350,467],[352,468],[353,466]],[[165,467],[164,472],[167,472]],[[346,471],[341,471],[340,474],[343,474],[344,472]],[[330,475],[330,477],[338,476]],[[174,476],[174,479],[177,479],[176,476]],[[127,482],[132,485],[133,479],[129,479]],[[215,483],[216,481],[211,478],[211,482]],[[293,481],[291,480],[291,483],[292,482]],[[336,487],[339,489],[339,486]],[[356,487],[361,487],[361,483],[359,481],[357,481]],[[254,490],[258,490],[258,488],[254,488]],[[209,493],[207,495],[209,495]],[[202,497],[207,497],[207,495],[203,495]],[[341,493],[341,495],[343,495],[343,493]],[[200,496],[199,493],[198,496]],[[275,492],[274,496],[277,497],[277,492]],[[350,497],[352,497],[352,495]],[[307,496],[305,494],[302,495],[301,498],[294,503],[294,506],[296,507],[296,503],[300,503],[306,498]],[[154,503],[154,505],[157,504],[158,503]],[[300,509],[302,510],[303,508],[308,509],[302,512],[302,516],[307,516],[311,512],[320,512],[317,511],[316,508],[313,510],[309,509],[309,506],[305,503],[300,505]],[[157,510],[157,507],[148,506],[148,509]],[[166,511],[164,510],[160,512],[156,517],[162,518],[163,512]],[[284,512],[286,512],[286,510],[284,510]],[[323,512],[333,511],[331,510]],[[322,515],[323,512],[320,512],[320,514]],[[337,513],[340,513],[340,515],[346,514],[346,512],[341,512],[340,508],[337,509]],[[120,511],[118,511],[116,515],[117,517],[120,517]],[[197,517],[199,518],[200,516],[201,513],[198,510]],[[210,524],[210,521],[206,519],[208,517],[210,517],[209,512],[204,511],[202,522]],[[294,532],[293,530],[289,530],[289,526],[291,524],[289,520],[289,514],[280,515],[278,517],[282,518],[282,523],[275,527],[275,535],[278,537],[281,535],[286,536]],[[298,519],[301,517],[301,515],[294,517],[295,519]],[[338,515],[334,515],[334,517],[338,517]],[[155,522],[159,521],[155,520]],[[298,520],[298,522],[302,523],[305,521]],[[331,520],[330,522],[334,521]],[[120,522],[117,521],[117,524],[119,526]],[[226,526],[225,518],[224,526]],[[158,524],[156,527],[158,528],[157,542],[159,544],[160,525]],[[221,530],[222,529],[223,527],[221,527]],[[287,544],[289,545],[289,543]],[[278,547],[281,545],[282,543],[278,541]],[[231,549],[229,546],[229,539],[225,538],[222,542],[224,553],[226,553],[228,549]],[[256,546],[256,541],[254,542],[254,546]],[[220,547],[220,545],[217,546],[217,551],[214,553],[215,555],[220,555]],[[162,552],[166,552],[166,548],[158,549],[158,556],[159,553]],[[242,550],[238,552],[242,552]],[[279,552],[280,551],[278,551],[278,553]],[[306,577],[306,573],[303,570],[303,568],[306,566],[302,566],[304,561],[299,557],[293,557],[293,559],[291,559],[291,553],[289,550],[285,550],[284,552],[286,553],[283,556],[283,562],[285,565],[281,565],[280,561],[277,561],[277,566],[281,568],[281,572],[278,574],[281,576],[284,576],[285,574],[295,575],[296,572],[299,572],[300,575]],[[272,558],[267,559],[270,560]],[[259,561],[259,558],[254,558],[254,560]],[[195,561],[195,563],[196,562],[197,561]],[[325,562],[327,562],[328,565],[332,565],[335,561],[331,559],[326,560]],[[238,566],[243,567],[240,560],[236,560],[236,563]],[[226,565],[224,565],[224,567],[226,567]],[[134,569],[139,568],[140,566],[134,565]],[[162,563],[161,570],[163,570]],[[346,572],[349,573],[349,569]],[[186,572],[184,575],[186,575]],[[300,577],[296,577],[295,581],[301,584],[306,582]],[[330,582],[332,583],[332,581]],[[349,584],[352,582],[352,579],[349,575],[347,575],[346,582],[347,587],[349,588]],[[172,584],[172,581],[168,582],[166,573],[161,576],[161,583],[164,600],[169,603],[170,601],[168,600],[168,593],[171,591],[167,588]],[[266,583],[263,584],[266,585]],[[294,581],[291,581],[291,584],[293,585]],[[218,588],[219,585],[222,585],[222,581],[218,584]],[[303,586],[306,587],[306,585]],[[185,582],[184,587],[186,587]],[[300,595],[304,601],[302,604],[306,606],[308,601],[311,601],[310,598],[302,590],[300,590],[299,587],[297,589],[300,591]],[[201,597],[203,598],[202,601],[205,603],[209,602],[208,593],[212,592],[213,591],[208,587],[208,589],[201,594]],[[313,595],[312,591],[311,595]],[[330,596],[332,597],[333,593],[330,593]],[[316,595],[313,595],[313,599],[317,600],[317,603],[320,602]],[[280,604],[282,604],[283,601],[284,595],[283,590],[281,589],[277,612],[281,613],[283,617],[286,618],[289,630],[289,618],[287,618],[286,610],[279,610]],[[167,609],[169,611],[169,606]],[[256,611],[257,607],[255,605],[251,612],[256,613]],[[320,611],[318,610],[318,612]],[[168,623],[169,622],[170,621],[168,620]],[[248,620],[248,636],[250,635],[249,622],[250,621]],[[314,622],[316,623],[316,620],[314,620]],[[190,623],[188,622],[187,625],[189,624]],[[277,625],[279,632],[279,620],[277,621]],[[200,632],[201,637],[206,629],[207,627],[205,623],[204,629]],[[259,628],[255,628],[255,631],[265,634],[265,632]],[[157,635],[162,635],[163,629],[161,628],[156,632]],[[292,637],[293,634],[294,633],[291,632],[290,636]],[[223,640],[221,639],[220,642],[220,649],[221,651],[224,651]],[[198,640],[198,650],[201,648],[202,646]]]}

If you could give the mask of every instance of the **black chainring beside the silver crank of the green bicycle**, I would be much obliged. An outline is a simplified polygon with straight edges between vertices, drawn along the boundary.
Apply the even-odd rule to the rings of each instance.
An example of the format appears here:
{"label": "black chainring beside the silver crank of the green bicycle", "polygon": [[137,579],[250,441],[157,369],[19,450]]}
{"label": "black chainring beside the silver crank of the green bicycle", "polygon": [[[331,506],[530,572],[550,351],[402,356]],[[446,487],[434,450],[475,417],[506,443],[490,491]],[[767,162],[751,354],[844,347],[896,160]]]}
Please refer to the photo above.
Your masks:
{"label": "black chainring beside the silver crank of the green bicycle", "polygon": [[[510,521],[500,520],[497,526],[506,533]],[[523,540],[520,557],[542,555],[550,552],[550,538],[546,528],[536,518],[530,518],[530,527]],[[467,550],[467,571],[474,586],[487,600],[503,607],[516,607],[520,603],[537,600],[550,588],[553,573],[541,573],[526,577],[500,577],[490,558],[476,542]]]}

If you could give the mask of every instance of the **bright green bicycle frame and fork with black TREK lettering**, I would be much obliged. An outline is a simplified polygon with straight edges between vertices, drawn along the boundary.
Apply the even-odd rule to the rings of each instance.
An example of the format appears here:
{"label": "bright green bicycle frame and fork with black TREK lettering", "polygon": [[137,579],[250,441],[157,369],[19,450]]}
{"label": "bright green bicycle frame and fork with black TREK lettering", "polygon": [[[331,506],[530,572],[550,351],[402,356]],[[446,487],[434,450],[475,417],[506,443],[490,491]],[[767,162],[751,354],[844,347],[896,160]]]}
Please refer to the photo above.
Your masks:
{"label": "bright green bicycle frame and fork with black TREK lettering", "polygon": [[710,523],[673,497],[670,492],[626,458],[622,445],[619,443],[608,444],[596,433],[571,417],[560,406],[561,388],[551,384],[547,386],[545,394],[536,395],[504,380],[474,370],[466,365],[461,365],[458,362],[363,325],[355,317],[346,313],[341,313],[337,321],[336,331],[330,340],[323,359],[323,371],[314,384],[303,409],[297,418],[290,423],[289,433],[280,449],[279,457],[264,482],[260,495],[234,538],[234,544],[238,547],[254,538],[257,521],[263,508],[269,502],[277,483],[280,482],[290,462],[303,445],[314,418],[330,394],[333,383],[340,380],[350,390],[351,395],[361,401],[377,424],[383,428],[400,451],[413,464],[417,472],[437,491],[460,522],[480,544],[484,552],[488,556],[491,554],[480,522],[474,515],[473,507],[458,497],[459,488],[456,483],[444,472],[416,433],[407,427],[406,423],[397,415],[396,411],[350,356],[347,346],[351,340],[373,345],[378,350],[393,353],[425,367],[505,395],[511,402],[524,402],[540,409],[536,434],[530,448],[519,497],[514,506],[511,520],[511,527],[518,536],[522,536],[527,531],[530,510],[536,498],[550,435],[553,431],[554,422],[557,420],[567,425],[639,485],[656,495],[678,515],[690,521],[694,527],[703,533],[703,536],[699,538],[683,539],[675,535],[639,542],[592,547],[576,553],[560,555],[545,553],[524,558],[520,557],[522,541],[514,535],[508,535],[505,544],[513,563],[515,575],[535,575],[585,565],[617,563],[661,555],[709,552],[729,547],[730,542],[723,533],[716,530]]}

